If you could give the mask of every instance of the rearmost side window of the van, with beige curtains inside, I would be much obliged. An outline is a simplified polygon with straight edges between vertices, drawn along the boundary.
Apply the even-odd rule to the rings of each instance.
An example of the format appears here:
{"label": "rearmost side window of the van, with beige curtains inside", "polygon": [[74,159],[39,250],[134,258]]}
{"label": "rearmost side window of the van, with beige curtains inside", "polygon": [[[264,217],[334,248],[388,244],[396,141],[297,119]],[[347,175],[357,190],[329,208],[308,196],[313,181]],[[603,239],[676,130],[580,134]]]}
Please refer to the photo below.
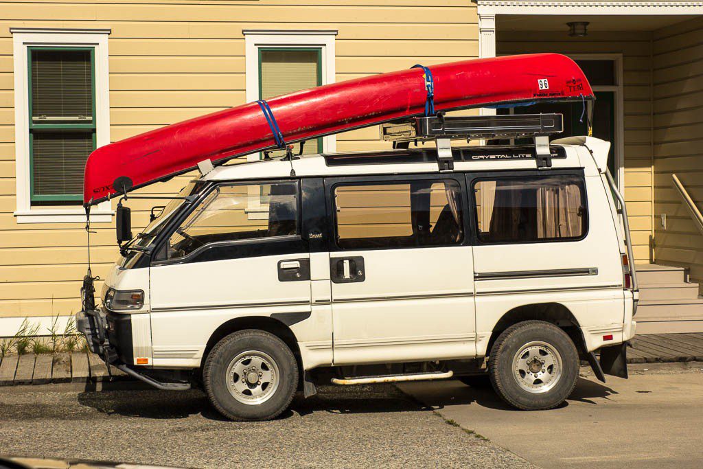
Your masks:
{"label": "rearmost side window of the van, with beige curtains inside", "polygon": [[484,179],[473,188],[483,243],[568,241],[586,234],[586,191],[579,176]]}

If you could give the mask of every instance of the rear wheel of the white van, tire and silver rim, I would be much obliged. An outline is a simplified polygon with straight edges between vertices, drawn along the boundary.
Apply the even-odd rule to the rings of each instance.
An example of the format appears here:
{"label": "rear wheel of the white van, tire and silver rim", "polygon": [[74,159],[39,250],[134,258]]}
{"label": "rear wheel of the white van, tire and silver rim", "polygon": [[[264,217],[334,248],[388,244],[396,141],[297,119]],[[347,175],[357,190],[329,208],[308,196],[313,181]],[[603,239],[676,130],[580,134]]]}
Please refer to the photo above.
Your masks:
{"label": "rear wheel of the white van, tire and silver rim", "polygon": [[489,356],[489,376],[494,390],[511,406],[553,409],[576,387],[579,353],[554,324],[524,321],[498,336]]}

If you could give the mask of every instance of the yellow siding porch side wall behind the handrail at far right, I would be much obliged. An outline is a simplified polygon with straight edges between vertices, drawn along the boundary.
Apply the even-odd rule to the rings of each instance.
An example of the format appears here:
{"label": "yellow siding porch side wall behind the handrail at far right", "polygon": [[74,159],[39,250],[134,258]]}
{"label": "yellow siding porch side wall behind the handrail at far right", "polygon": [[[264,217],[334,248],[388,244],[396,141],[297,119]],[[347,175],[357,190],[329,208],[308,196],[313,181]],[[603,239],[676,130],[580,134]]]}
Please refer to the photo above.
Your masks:
{"label": "yellow siding porch side wall behind the handrail at far right", "polygon": [[703,281],[703,236],[671,186],[676,173],[703,210],[703,19],[657,30],[653,48],[654,252]]}

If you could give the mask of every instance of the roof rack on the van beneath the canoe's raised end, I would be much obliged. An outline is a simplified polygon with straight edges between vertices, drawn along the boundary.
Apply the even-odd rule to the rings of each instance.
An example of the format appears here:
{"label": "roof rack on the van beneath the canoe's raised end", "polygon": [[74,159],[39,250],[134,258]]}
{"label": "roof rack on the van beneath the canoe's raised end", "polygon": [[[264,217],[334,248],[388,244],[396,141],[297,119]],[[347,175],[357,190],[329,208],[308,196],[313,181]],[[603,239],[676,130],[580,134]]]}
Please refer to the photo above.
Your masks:
{"label": "roof rack on the van beneath the canoe's raised end", "polygon": [[462,139],[534,139],[538,169],[552,166],[549,136],[564,130],[561,114],[491,115],[469,117],[413,117],[405,122],[381,124],[381,139],[394,148],[408,148],[411,142],[434,140],[440,171],[454,167],[451,141]]}

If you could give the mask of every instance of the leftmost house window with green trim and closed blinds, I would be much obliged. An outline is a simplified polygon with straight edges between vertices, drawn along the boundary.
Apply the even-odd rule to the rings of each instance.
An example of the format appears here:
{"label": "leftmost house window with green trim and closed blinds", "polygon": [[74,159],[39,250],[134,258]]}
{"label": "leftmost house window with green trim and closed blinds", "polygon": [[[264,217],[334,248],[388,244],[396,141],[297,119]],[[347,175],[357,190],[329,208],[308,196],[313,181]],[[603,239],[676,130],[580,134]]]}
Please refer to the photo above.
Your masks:
{"label": "leftmost house window with green trim and closed blinds", "polygon": [[29,47],[30,200],[80,204],[83,171],[96,148],[92,47]]}

